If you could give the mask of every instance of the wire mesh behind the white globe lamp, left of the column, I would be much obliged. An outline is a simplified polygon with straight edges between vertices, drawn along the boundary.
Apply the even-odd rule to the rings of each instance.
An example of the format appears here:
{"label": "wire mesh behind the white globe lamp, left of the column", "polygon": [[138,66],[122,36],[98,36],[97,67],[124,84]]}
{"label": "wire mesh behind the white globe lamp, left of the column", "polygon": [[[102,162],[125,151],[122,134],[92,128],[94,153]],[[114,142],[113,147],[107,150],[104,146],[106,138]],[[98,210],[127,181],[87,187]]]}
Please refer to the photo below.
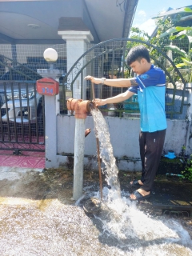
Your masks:
{"label": "wire mesh behind the white globe lamp, left of the column", "polygon": [[[63,45],[0,45],[0,80],[38,80],[38,69],[49,69],[43,58],[47,48],[58,52],[54,68],[66,73],[66,44]],[[62,80],[62,78],[61,78]]]}

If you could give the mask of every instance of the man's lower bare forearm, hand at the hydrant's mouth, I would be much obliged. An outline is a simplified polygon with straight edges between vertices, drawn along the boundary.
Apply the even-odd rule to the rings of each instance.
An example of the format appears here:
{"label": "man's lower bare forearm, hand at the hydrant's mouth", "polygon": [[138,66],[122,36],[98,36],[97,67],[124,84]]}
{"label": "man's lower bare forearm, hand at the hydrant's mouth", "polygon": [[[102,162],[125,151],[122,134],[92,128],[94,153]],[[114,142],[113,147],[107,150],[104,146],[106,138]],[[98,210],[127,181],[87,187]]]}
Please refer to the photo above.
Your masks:
{"label": "man's lower bare forearm, hand at the hydrant's mouth", "polygon": [[106,98],[106,99],[95,98],[94,103],[96,104],[96,106],[103,106],[111,103],[124,102],[126,99],[130,98],[133,95],[134,93],[132,93],[129,90],[126,90],[125,93],[118,94],[117,96],[114,96],[111,98]]}

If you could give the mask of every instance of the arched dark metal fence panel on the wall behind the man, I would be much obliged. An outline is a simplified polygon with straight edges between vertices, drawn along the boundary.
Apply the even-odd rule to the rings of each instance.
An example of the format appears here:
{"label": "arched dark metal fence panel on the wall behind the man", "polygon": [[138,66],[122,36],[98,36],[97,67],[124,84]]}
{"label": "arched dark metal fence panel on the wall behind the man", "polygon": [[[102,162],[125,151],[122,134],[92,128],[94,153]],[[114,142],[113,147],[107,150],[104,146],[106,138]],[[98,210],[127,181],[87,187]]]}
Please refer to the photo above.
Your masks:
{"label": "arched dark metal fence panel on the wall behind the man", "polygon": [[[160,49],[146,41],[131,38],[116,38],[99,43],[78,58],[64,78],[66,93],[63,92],[61,104],[61,114],[66,110],[67,94],[74,94],[81,85],[81,98],[92,99],[90,81],[85,81],[85,75],[102,78],[130,78],[134,74],[129,66],[126,66],[126,55],[130,48],[137,45],[144,45],[150,52],[151,62],[165,71],[166,74],[166,118],[186,118],[187,94],[186,82],[182,74],[175,66],[171,58],[166,54],[166,50]],[[176,56],[173,56],[175,58]],[[116,88],[105,85],[94,86],[97,98],[113,97],[127,90],[126,88]],[[72,96],[73,97],[73,96]],[[114,106],[99,107],[103,115],[117,117],[137,117],[139,108],[137,96],[135,95],[126,102],[120,102]]]}

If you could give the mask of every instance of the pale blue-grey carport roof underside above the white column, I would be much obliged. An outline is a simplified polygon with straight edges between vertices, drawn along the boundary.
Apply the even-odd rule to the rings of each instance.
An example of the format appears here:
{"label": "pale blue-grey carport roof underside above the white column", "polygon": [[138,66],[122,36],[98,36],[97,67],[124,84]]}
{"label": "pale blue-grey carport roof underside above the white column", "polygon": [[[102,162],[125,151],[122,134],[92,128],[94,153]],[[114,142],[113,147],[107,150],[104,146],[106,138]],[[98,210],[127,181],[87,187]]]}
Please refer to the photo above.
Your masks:
{"label": "pale blue-grey carport roof underside above the white column", "polygon": [[62,29],[90,30],[94,43],[127,38],[137,4],[138,0],[0,0],[0,43],[63,43],[58,35]]}

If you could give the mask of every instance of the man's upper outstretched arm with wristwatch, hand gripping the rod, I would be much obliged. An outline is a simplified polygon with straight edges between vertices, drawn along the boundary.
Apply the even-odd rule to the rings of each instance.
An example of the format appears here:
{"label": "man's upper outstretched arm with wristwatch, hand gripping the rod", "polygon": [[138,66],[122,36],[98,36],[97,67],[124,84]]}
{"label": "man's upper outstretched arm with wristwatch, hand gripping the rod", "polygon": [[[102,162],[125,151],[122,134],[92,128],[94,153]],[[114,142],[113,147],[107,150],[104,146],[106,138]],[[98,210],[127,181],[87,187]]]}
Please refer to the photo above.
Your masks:
{"label": "man's upper outstretched arm with wristwatch, hand gripping the rod", "polygon": [[[86,80],[90,80],[95,84],[102,83],[102,78],[94,78],[90,75],[85,77]],[[118,78],[118,79],[105,79],[103,82],[106,86],[114,86],[114,87],[130,87],[130,86],[138,86],[138,82],[135,78]]]}

